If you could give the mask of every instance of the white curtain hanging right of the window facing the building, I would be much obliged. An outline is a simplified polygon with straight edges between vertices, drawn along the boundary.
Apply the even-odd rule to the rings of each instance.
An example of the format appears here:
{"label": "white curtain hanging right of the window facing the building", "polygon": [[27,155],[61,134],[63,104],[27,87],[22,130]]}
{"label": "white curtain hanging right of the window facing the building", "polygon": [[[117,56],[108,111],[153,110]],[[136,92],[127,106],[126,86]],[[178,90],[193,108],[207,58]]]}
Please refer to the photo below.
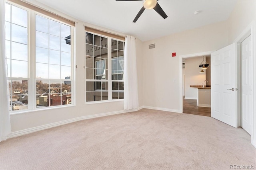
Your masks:
{"label": "white curtain hanging right of the window facing the building", "polygon": [[124,45],[124,109],[139,107],[135,38],[127,35]]}

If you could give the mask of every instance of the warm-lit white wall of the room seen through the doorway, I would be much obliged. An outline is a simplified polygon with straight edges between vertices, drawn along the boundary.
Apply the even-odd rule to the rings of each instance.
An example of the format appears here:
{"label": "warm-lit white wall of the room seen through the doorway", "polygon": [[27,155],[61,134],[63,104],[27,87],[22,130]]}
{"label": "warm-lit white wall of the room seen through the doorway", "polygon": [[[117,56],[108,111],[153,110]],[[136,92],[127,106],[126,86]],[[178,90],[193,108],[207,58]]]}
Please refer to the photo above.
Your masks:
{"label": "warm-lit white wall of the room seen through the doorway", "polygon": [[199,64],[202,62],[201,57],[192,57],[185,60],[185,99],[197,99],[198,91],[190,85],[203,85],[206,74],[205,71],[200,73]]}

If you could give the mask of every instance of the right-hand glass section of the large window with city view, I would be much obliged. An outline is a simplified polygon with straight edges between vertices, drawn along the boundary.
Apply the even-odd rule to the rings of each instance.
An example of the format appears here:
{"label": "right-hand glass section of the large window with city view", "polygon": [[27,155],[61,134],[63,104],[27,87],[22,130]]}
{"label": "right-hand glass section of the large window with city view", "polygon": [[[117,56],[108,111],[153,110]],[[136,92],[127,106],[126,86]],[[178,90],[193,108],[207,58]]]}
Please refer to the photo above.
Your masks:
{"label": "right-hand glass section of the large window with city view", "polygon": [[37,107],[70,104],[70,35],[70,26],[36,15]]}

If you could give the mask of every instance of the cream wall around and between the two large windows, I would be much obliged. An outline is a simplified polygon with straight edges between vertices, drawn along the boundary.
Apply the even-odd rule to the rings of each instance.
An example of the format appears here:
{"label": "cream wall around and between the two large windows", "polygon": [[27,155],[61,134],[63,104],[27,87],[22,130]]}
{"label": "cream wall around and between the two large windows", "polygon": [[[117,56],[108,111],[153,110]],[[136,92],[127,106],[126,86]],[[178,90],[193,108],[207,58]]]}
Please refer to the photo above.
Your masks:
{"label": "cream wall around and between the two large windows", "polygon": [[[50,10],[56,14],[64,16],[70,20],[78,21],[74,18],[66,16],[56,10],[53,10],[43,4],[40,4],[36,1],[31,1],[32,3],[39,5],[47,10]],[[100,114],[100,113],[108,113],[115,111],[124,111],[124,103],[123,101],[117,102],[107,102],[101,104],[84,104],[84,87],[85,87],[85,75],[84,75],[84,57],[85,57],[85,31],[84,25],[89,27],[95,27],[104,31],[117,33],[119,35],[124,35],[123,33],[119,33],[113,30],[109,30],[106,28],[98,27],[96,25],[92,25],[90,23],[84,23],[82,21],[78,21],[76,23],[75,32],[76,32],[76,65],[78,66],[76,70],[76,106],[58,108],[58,109],[48,109],[41,111],[32,111],[28,113],[21,114],[12,114],[11,115],[11,126],[12,132],[22,131],[24,129],[30,129],[38,126],[44,126],[51,123],[56,123],[60,121],[66,121],[69,119],[75,119],[78,117]],[[137,62],[138,62],[138,88],[139,88],[139,102],[140,106],[142,106],[143,98],[142,98],[142,42],[139,39],[136,39],[136,49],[137,49]],[[106,109],[106,106],[108,109]]]}

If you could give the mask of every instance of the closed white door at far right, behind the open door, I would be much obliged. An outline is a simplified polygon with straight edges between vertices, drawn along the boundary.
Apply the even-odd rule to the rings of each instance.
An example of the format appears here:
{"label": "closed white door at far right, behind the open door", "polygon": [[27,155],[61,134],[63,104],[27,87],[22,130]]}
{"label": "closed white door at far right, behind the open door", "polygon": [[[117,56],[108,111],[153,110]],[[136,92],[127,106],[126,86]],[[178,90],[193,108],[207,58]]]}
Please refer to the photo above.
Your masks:
{"label": "closed white door at far right, behind the open door", "polygon": [[241,127],[252,133],[252,50],[251,35],[241,44]]}

